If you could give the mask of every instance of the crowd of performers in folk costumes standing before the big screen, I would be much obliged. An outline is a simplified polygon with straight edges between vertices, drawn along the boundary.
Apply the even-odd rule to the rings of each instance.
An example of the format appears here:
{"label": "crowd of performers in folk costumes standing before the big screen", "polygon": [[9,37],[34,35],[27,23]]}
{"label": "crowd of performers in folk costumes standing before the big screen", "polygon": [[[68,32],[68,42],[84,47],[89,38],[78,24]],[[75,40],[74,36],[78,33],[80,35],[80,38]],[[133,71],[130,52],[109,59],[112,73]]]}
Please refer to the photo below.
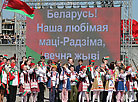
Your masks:
{"label": "crowd of performers in folk costumes standing before the big screen", "polygon": [[57,62],[41,56],[23,56],[19,68],[16,57],[10,59],[0,55],[0,102],[6,94],[7,102],[15,102],[19,88],[21,102],[44,102],[44,91],[49,90],[49,102],[135,102],[137,101],[138,68],[125,66],[123,61],[109,64],[109,56],[102,59],[101,65],[83,60],[74,65],[73,58],[68,63]]}

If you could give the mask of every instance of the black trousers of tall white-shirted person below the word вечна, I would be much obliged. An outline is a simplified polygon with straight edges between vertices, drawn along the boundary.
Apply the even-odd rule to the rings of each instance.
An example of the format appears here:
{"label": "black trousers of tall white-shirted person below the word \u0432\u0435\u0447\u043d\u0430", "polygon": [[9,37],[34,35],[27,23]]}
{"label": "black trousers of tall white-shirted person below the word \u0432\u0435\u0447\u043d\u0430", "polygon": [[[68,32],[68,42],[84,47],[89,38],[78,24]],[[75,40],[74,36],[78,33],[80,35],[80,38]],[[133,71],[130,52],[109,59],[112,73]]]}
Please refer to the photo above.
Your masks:
{"label": "black trousers of tall white-shirted person below the word \u0432\u0435\u0447\u043d\u0430", "polygon": [[38,83],[39,85],[39,89],[40,89],[40,92],[38,93],[38,96],[37,96],[37,102],[44,102],[44,90],[45,90],[45,86],[44,86],[44,83]]}

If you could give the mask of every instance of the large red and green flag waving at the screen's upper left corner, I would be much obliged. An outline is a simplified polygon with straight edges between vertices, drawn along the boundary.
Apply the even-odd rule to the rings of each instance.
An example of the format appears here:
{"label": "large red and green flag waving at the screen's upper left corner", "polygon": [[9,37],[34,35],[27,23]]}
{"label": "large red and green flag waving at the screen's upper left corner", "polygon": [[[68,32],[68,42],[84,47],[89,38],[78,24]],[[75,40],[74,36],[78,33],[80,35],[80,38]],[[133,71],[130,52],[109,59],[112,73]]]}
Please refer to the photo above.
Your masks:
{"label": "large red and green flag waving at the screen's upper left corner", "polygon": [[20,0],[5,0],[3,9],[20,13],[31,19],[34,18],[34,9],[31,9],[25,2]]}

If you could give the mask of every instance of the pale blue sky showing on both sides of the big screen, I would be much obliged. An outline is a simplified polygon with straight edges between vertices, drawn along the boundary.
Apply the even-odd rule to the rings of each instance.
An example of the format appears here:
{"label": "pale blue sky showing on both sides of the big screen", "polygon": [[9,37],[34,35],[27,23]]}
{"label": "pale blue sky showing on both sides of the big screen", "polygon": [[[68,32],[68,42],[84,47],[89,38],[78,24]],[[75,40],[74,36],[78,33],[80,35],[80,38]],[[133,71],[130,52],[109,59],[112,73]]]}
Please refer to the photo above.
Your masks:
{"label": "pale blue sky showing on both sides of the big screen", "polygon": [[[133,19],[138,21],[138,0],[132,0],[133,1]],[[10,16],[9,16],[10,15]],[[13,17],[13,13],[10,13],[6,10],[3,10],[3,17],[4,18],[12,18]]]}

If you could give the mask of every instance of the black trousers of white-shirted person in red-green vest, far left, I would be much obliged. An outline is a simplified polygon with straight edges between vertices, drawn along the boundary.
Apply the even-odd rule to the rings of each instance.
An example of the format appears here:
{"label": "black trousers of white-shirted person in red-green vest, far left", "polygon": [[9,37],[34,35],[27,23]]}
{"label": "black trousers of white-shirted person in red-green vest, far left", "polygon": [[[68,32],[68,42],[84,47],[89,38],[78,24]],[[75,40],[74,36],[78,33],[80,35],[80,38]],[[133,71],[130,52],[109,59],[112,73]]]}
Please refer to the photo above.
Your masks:
{"label": "black trousers of white-shirted person in red-green vest, far left", "polygon": [[16,101],[16,93],[17,93],[17,86],[9,85],[10,94],[7,96],[7,102],[15,102]]}

